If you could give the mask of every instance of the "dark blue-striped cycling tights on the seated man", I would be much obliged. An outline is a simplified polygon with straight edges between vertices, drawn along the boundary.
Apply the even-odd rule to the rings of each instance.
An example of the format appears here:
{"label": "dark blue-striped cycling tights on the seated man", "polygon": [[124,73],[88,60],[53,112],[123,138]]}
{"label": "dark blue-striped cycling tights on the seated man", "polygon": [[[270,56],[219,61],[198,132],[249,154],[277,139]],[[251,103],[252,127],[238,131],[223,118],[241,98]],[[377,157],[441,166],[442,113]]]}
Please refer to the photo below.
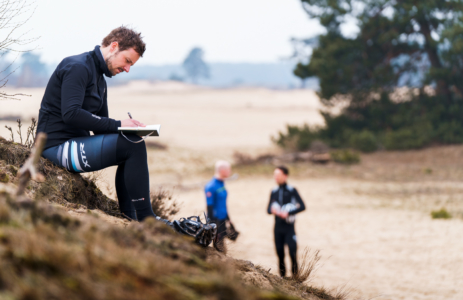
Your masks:
{"label": "dark blue-striped cycling tights on the seated man", "polygon": [[[127,135],[132,141],[138,136]],[[70,139],[46,149],[43,157],[70,172],[93,172],[117,165],[116,193],[121,213],[143,221],[155,217],[150,202],[149,172],[144,142],[131,143],[123,136],[101,134]]]}

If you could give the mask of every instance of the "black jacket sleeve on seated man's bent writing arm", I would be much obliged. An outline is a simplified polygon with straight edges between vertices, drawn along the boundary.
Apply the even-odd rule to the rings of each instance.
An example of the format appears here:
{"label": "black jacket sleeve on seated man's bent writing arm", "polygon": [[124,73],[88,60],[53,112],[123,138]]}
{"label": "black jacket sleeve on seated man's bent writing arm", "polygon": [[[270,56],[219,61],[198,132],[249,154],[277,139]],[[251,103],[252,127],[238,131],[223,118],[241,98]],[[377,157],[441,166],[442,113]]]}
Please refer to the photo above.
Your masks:
{"label": "black jacket sleeve on seated man's bent writing arm", "polygon": [[121,121],[96,116],[82,109],[90,75],[87,67],[81,64],[70,65],[63,71],[61,76],[61,116],[63,121],[67,125],[93,132],[117,132],[117,127],[121,126]]}

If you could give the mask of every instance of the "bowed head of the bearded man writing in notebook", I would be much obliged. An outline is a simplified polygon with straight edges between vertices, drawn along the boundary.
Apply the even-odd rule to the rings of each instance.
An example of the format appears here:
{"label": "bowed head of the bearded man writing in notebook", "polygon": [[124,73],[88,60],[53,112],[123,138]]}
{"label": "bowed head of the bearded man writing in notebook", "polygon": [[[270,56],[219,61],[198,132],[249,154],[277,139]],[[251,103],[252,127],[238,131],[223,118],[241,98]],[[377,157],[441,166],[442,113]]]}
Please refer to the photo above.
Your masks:
{"label": "bowed head of the bearded man writing in notebook", "polygon": [[101,52],[113,76],[124,71],[128,73],[145,50],[141,33],[125,26],[113,29],[101,43]]}

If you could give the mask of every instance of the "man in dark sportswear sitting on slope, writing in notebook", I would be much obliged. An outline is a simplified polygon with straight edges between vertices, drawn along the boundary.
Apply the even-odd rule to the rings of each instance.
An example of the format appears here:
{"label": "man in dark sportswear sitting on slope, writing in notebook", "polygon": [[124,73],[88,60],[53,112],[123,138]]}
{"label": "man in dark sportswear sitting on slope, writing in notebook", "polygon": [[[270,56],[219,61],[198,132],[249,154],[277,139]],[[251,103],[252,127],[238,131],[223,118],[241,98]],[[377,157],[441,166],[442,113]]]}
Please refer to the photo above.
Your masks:
{"label": "man in dark sportswear sitting on slope, writing in notebook", "polygon": [[[146,146],[135,135],[120,135],[118,127],[145,125],[131,118],[109,118],[103,75],[111,78],[128,73],[145,48],[140,33],[121,26],[103,39],[102,46],[63,59],[47,84],[37,127],[37,132],[48,135],[43,156],[70,172],[92,172],[117,165],[116,192],[121,213],[138,221],[147,217],[161,220],[151,207]],[[206,240],[215,237],[215,224],[203,226],[196,219],[162,221],[190,235],[197,228]]]}

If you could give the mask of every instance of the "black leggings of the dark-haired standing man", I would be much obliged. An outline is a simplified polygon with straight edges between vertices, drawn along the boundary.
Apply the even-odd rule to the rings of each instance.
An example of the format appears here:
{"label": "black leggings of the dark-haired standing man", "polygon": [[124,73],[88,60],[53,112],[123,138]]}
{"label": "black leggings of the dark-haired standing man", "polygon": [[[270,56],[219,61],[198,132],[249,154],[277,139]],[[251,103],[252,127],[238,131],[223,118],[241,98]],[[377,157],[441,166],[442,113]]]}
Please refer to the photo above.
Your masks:
{"label": "black leggings of the dark-haired standing man", "polygon": [[297,273],[297,241],[296,241],[296,232],[294,231],[294,226],[288,226],[285,228],[275,227],[275,248],[278,255],[278,267],[280,271],[280,276],[284,277],[286,275],[286,265],[285,265],[285,244],[289,248],[289,256],[291,257],[292,263],[292,273],[293,275]]}

